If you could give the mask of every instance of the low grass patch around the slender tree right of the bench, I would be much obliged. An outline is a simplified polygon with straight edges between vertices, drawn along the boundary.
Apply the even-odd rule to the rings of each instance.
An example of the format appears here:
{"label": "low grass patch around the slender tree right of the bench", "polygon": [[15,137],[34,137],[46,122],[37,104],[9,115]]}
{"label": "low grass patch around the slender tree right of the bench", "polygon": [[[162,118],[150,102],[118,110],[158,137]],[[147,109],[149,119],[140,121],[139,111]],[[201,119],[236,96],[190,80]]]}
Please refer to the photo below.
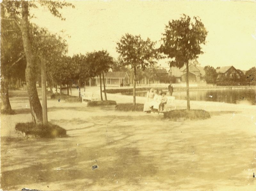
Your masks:
{"label": "low grass patch around the slender tree right of the bench", "polygon": [[164,118],[173,120],[189,119],[189,120],[204,120],[210,118],[210,113],[201,109],[175,109],[164,113]]}

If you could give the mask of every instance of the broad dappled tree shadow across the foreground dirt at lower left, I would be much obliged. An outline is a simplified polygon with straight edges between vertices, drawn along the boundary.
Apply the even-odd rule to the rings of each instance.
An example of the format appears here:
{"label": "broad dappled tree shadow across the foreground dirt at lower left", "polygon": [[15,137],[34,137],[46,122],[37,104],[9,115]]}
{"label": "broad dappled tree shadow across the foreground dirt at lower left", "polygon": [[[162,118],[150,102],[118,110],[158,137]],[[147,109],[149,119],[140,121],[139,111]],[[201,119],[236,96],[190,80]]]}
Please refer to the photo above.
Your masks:
{"label": "broad dappled tree shadow across the foreground dirt at lower left", "polygon": [[[12,143],[12,141],[14,140],[9,140],[8,144]],[[36,154],[19,156],[24,159],[20,163],[14,163],[13,160],[8,161],[8,165],[11,166],[26,164],[29,166],[2,171],[2,189],[21,189],[21,187],[26,187],[35,182],[40,184],[59,181],[70,189],[77,187],[76,180],[80,179],[85,179],[84,185],[86,187],[101,184],[102,182],[115,185],[116,181],[121,180],[125,184],[139,184],[139,175],[141,173],[154,175],[157,169],[154,164],[150,164],[152,157],[141,156],[139,150],[134,147],[109,149],[107,144],[100,147],[90,146],[89,148],[84,147],[80,150],[75,150],[69,149],[71,145],[67,142],[61,145],[55,144],[54,148],[52,147],[52,142],[43,143],[43,147],[36,144],[33,147],[27,145],[23,148],[23,150],[29,149],[30,153]],[[98,155],[95,155],[95,153],[98,153]],[[55,155],[54,157],[52,156],[53,154]],[[40,161],[42,158],[44,162]],[[36,163],[34,162],[35,160],[37,161]],[[144,164],[140,164],[141,160],[144,161]],[[7,162],[4,159],[2,161],[4,164]],[[92,165],[97,165],[98,168],[92,170]],[[86,180],[92,181],[86,182]],[[22,186],[19,187],[20,185]]]}

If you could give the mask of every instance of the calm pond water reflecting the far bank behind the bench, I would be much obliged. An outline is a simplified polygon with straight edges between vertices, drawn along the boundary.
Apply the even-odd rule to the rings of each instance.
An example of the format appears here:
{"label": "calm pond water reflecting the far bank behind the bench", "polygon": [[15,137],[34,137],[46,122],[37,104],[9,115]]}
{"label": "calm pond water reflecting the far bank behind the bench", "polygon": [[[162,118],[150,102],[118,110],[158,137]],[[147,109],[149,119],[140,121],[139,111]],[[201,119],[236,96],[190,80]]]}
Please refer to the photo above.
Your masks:
{"label": "calm pond water reflecting the far bank behind the bench", "polygon": [[[132,92],[124,93],[132,95]],[[137,96],[146,97],[147,92],[136,92]],[[167,94],[168,95],[168,94]],[[173,92],[175,99],[187,99],[187,92]],[[196,101],[218,101],[235,104],[256,105],[256,89],[226,89],[226,90],[190,90],[190,100]]]}

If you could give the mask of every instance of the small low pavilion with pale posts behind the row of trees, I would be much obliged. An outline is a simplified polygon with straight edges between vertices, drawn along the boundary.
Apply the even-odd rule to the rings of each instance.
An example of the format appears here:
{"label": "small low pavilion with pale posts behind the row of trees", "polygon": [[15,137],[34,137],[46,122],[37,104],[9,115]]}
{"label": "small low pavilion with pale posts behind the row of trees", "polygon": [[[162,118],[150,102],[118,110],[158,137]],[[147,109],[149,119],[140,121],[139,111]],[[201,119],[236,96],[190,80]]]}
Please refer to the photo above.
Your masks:
{"label": "small low pavilion with pale posts behind the row of trees", "polygon": [[[130,77],[127,72],[108,72],[104,73],[105,85],[112,86],[129,86]],[[103,79],[101,75],[101,83],[103,85]],[[100,76],[96,77],[96,86],[100,85]]]}

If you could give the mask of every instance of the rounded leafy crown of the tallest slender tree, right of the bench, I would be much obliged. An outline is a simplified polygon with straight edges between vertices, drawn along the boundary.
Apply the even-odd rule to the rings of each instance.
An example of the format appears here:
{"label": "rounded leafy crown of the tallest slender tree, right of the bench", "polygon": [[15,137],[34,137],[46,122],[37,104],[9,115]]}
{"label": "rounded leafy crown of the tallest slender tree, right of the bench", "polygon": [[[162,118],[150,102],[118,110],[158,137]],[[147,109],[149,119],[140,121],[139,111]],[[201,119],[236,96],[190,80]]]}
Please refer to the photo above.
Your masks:
{"label": "rounded leafy crown of the tallest slender tree, right of the bench", "polygon": [[192,22],[189,16],[183,15],[179,20],[169,21],[165,27],[160,51],[172,59],[170,66],[181,68],[203,54],[201,44],[205,44],[207,33],[199,18],[194,17]]}

